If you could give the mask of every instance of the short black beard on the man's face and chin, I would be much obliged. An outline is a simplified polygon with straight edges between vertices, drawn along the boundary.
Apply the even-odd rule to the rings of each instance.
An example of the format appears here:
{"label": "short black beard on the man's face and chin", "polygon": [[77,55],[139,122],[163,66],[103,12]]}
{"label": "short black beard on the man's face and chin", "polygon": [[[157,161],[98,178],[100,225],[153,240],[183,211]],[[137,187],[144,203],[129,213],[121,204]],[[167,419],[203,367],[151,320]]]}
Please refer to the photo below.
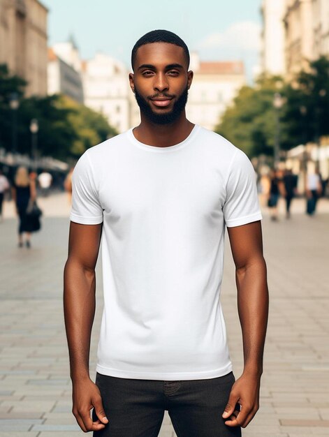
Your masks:
{"label": "short black beard on the man's face and chin", "polygon": [[[156,112],[153,112],[151,106],[146,101],[144,97],[142,97],[136,87],[135,87],[135,98],[137,101],[138,106],[140,107],[140,112],[142,112],[149,121],[151,121],[154,124],[171,124],[174,121],[176,121],[180,114],[182,114],[183,110],[185,109],[185,106],[187,104],[187,97],[189,95],[189,91],[187,87],[184,89],[182,94],[179,98],[177,98],[177,101],[173,105],[173,109],[170,112],[166,112],[165,114],[157,114]],[[170,97],[165,93],[161,93],[161,96],[163,97]]]}

